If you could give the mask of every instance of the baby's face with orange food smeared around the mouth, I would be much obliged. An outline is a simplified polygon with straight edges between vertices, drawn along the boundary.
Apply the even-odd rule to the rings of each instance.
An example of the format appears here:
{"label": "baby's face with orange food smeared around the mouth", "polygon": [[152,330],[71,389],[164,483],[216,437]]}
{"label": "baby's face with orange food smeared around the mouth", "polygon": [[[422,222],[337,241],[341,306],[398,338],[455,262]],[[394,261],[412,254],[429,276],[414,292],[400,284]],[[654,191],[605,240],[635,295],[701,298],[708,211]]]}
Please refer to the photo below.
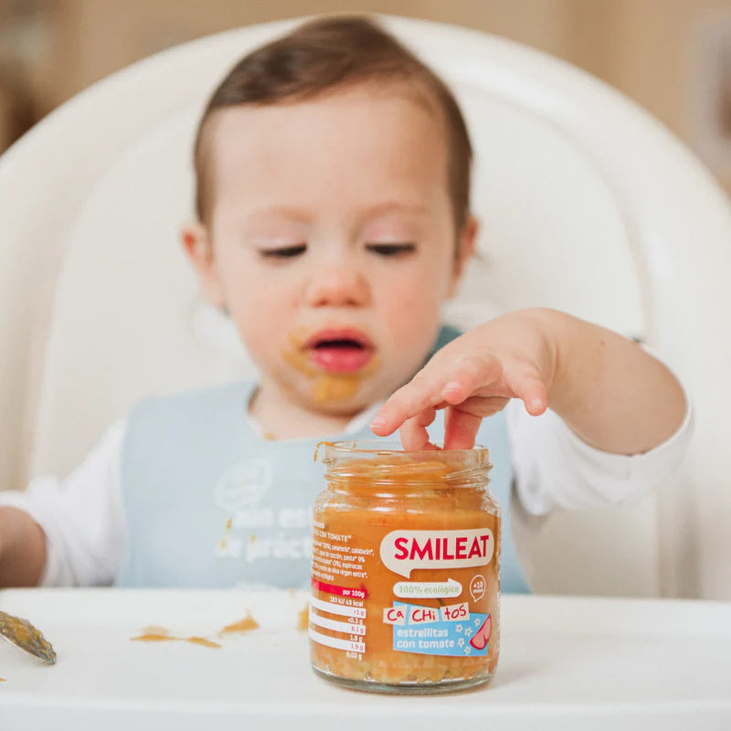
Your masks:
{"label": "baby's face with orange food smeared around the mouth", "polygon": [[211,215],[188,249],[262,391],[339,415],[387,397],[423,363],[471,247],[455,259],[440,117],[368,86],[208,123]]}

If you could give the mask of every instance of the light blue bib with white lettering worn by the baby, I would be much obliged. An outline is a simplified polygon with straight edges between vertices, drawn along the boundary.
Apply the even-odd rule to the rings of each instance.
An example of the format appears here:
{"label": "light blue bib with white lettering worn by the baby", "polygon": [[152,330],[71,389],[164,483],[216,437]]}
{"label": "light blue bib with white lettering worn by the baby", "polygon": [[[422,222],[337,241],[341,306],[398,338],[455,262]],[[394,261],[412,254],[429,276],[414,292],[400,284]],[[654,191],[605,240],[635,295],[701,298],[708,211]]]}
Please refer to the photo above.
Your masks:
{"label": "light blue bib with white lettering worn by the baby", "polygon": [[[455,334],[443,329],[437,347]],[[262,439],[246,418],[255,387],[155,398],[132,411],[122,450],[128,551],[118,586],[308,587],[312,505],[324,488],[314,449],[344,437]],[[439,422],[429,429],[437,441]],[[376,438],[366,427],[345,439]],[[490,449],[490,490],[502,508],[502,590],[528,592],[510,528],[513,475],[502,413],[483,420],[477,441]]]}

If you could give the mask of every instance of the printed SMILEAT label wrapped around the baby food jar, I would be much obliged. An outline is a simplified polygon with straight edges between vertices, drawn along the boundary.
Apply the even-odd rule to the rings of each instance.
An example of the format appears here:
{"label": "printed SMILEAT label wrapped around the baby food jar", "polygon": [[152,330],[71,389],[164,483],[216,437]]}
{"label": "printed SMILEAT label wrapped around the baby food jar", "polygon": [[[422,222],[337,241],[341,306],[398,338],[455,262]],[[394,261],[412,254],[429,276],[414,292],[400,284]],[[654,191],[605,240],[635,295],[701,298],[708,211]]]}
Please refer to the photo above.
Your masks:
{"label": "printed SMILEAT label wrapped around the baby food jar", "polygon": [[315,520],[309,634],[323,648],[318,657],[330,648],[354,661],[387,663],[384,653],[394,652],[491,662],[499,519],[482,521],[356,534],[334,530],[332,517]]}

